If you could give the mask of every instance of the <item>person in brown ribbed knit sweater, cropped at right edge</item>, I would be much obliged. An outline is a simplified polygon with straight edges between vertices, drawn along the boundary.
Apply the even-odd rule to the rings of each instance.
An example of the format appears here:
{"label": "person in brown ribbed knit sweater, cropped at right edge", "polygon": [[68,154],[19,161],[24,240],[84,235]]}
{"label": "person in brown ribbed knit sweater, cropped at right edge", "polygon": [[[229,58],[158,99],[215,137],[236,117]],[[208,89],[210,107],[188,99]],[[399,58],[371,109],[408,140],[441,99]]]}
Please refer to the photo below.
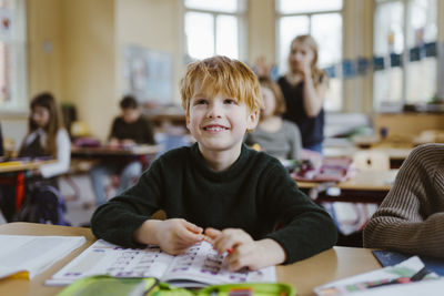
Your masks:
{"label": "person in brown ribbed knit sweater, cropped at right edge", "polygon": [[444,258],[444,144],[411,152],[364,228],[364,246]]}

